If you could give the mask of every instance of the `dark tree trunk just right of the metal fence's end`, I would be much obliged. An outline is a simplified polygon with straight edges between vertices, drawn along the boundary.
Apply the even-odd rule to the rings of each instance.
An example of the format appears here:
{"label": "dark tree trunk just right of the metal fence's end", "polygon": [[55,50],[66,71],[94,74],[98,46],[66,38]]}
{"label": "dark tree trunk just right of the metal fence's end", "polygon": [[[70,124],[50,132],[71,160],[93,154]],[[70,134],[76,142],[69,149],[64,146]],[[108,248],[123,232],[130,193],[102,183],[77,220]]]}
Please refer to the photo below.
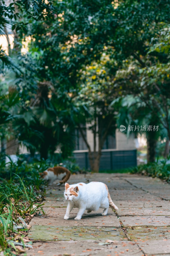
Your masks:
{"label": "dark tree trunk just right of the metal fence's end", "polygon": [[157,140],[154,136],[154,132],[148,132],[147,134],[147,162],[155,162],[155,148]]}

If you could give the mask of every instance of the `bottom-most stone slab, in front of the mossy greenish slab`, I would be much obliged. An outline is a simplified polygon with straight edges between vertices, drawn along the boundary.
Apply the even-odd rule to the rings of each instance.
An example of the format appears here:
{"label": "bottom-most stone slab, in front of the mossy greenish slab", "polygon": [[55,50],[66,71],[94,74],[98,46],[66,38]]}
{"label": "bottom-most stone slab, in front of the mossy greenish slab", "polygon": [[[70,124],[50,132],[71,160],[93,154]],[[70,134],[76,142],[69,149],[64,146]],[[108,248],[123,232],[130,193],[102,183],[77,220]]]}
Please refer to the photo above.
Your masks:
{"label": "bottom-most stone slab, in front of the mossy greenish slab", "polygon": [[[114,241],[112,244],[99,245],[101,241],[63,241],[53,243],[34,243],[27,256],[142,256],[137,244],[130,241]],[[39,253],[38,253],[39,252]]]}

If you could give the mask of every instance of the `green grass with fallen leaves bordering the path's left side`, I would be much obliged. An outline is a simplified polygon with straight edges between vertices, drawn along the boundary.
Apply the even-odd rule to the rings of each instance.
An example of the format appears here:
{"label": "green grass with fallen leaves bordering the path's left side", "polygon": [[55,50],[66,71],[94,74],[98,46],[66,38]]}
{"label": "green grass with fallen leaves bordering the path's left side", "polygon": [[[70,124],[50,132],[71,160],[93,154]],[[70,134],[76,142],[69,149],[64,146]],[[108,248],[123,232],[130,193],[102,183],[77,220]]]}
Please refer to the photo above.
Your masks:
{"label": "green grass with fallen leaves bordering the path's left side", "polygon": [[[18,165],[10,163],[0,166],[0,253],[3,255],[19,255],[16,245],[28,246],[23,237],[28,231],[28,223],[45,195],[43,180],[39,177],[41,164]],[[40,196],[41,195],[41,196]],[[42,209],[42,208],[41,208]]]}

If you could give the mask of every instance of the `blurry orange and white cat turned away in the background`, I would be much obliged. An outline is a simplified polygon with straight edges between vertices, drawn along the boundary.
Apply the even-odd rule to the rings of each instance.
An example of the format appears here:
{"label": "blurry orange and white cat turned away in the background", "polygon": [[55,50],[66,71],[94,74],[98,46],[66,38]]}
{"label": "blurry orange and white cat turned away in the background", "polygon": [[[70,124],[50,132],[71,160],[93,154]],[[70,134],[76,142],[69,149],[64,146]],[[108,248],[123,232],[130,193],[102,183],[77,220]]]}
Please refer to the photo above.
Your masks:
{"label": "blurry orange and white cat turned away in the background", "polygon": [[[66,174],[63,176],[63,173]],[[60,180],[57,185],[61,185],[70,178],[71,172],[63,166],[55,166],[48,168],[44,172],[39,172],[39,174],[41,178],[49,181],[48,185],[52,185],[55,180]]]}

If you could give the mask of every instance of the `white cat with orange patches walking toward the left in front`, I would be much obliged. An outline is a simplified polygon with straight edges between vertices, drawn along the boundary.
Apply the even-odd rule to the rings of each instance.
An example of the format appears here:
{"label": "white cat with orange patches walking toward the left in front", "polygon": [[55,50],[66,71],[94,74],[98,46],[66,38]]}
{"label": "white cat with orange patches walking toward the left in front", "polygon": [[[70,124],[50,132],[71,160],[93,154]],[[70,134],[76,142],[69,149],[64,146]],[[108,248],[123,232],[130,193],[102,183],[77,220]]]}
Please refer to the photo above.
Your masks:
{"label": "white cat with orange patches walking toward the left in front", "polygon": [[91,212],[104,208],[101,215],[107,215],[109,206],[112,209],[118,210],[109,195],[106,184],[102,182],[92,181],[88,184],[82,182],[73,185],[65,183],[64,196],[68,201],[64,220],[69,219],[70,212],[74,207],[78,208],[75,220],[81,220],[85,210]]}

